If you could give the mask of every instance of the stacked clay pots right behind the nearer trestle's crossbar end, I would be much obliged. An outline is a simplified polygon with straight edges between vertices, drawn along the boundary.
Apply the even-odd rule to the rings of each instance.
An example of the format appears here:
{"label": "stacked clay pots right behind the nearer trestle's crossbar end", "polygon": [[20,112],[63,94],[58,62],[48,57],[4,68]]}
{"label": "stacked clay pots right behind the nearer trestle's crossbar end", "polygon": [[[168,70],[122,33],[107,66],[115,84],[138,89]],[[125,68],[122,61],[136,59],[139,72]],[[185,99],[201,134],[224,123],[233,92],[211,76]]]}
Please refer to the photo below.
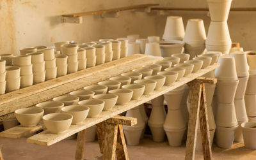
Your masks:
{"label": "stacked clay pots right behind the nearer trestle's crossbar end", "polygon": [[140,113],[140,106],[136,106],[131,110],[127,110],[126,117],[137,118],[137,124],[134,126],[123,126],[124,135],[126,138],[127,145],[139,145],[141,134],[145,126],[145,122]]}

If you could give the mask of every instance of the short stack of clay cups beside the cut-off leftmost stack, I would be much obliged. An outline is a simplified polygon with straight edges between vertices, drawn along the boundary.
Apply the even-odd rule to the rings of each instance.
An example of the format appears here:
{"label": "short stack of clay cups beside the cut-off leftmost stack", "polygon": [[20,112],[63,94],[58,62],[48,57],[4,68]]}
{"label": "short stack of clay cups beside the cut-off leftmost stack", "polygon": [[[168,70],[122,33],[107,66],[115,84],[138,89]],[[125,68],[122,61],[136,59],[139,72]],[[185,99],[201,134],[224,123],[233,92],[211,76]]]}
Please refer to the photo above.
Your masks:
{"label": "short stack of clay cups beside the cut-off leftmost stack", "polygon": [[6,93],[20,89],[20,67],[6,67]]}

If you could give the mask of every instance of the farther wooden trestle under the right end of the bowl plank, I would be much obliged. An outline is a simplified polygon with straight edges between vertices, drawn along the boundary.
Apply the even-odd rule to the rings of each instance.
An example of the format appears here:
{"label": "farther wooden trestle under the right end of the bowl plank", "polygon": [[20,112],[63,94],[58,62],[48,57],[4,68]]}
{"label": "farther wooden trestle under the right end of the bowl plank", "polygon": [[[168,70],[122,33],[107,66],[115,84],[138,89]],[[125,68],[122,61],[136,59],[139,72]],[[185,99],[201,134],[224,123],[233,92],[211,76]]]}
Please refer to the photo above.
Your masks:
{"label": "farther wooden trestle under the right end of the bowl plank", "polygon": [[186,160],[195,159],[198,117],[200,119],[204,159],[212,159],[204,84],[216,84],[216,82],[216,78],[196,78],[192,82],[188,83],[189,122],[186,142]]}

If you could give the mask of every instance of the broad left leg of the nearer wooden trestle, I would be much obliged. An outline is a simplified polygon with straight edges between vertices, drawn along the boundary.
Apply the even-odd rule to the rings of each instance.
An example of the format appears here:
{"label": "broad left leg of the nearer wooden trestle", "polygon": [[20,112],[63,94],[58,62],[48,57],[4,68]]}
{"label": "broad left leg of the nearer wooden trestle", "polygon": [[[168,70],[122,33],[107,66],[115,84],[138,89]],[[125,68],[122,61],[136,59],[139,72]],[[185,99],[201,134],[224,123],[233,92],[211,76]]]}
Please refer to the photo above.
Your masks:
{"label": "broad left leg of the nearer wooden trestle", "polygon": [[104,123],[103,160],[115,160],[118,125]]}

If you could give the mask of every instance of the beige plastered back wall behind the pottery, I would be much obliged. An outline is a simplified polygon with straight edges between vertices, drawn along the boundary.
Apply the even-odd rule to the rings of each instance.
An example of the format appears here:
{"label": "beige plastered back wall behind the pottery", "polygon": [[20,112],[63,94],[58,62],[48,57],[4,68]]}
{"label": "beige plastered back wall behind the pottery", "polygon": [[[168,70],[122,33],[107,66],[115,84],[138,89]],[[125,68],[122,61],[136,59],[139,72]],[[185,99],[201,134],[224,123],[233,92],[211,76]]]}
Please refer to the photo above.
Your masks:
{"label": "beige plastered back wall behind the pottery", "polygon": [[[99,38],[117,38],[127,34],[163,34],[166,16],[152,13],[122,11],[117,18],[99,15],[83,17],[83,24],[61,24],[60,15],[81,11],[102,10],[143,3],[160,3],[172,7],[207,7],[206,0],[0,0],[0,54],[17,54],[19,48],[35,45],[51,46],[55,41],[75,40],[78,43]],[[232,6],[256,7],[253,0],[234,0]],[[208,29],[206,12],[170,11],[188,18],[203,18]],[[239,41],[246,50],[255,49],[256,12],[232,12],[228,18],[232,41]],[[254,47],[254,48],[253,48]]]}

